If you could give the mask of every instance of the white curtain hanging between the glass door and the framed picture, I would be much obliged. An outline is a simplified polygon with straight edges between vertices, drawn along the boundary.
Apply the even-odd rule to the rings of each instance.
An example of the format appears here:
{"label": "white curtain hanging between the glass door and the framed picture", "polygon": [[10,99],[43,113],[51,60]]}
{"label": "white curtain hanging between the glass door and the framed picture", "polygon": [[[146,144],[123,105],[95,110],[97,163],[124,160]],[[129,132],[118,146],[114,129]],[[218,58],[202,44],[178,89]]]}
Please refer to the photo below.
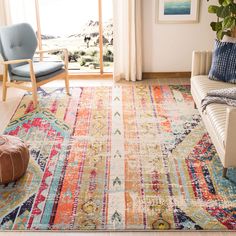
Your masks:
{"label": "white curtain hanging between the glass door and the framed picture", "polygon": [[113,0],[114,80],[142,80],[142,0]]}

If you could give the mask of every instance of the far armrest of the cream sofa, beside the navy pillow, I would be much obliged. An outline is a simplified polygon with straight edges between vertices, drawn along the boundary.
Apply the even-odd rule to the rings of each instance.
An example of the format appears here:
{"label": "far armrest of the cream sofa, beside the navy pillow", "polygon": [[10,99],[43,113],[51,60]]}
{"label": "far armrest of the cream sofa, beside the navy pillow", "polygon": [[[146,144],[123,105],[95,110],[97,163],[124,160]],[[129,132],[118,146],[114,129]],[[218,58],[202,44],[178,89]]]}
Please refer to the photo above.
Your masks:
{"label": "far armrest of the cream sofa, beside the navy pillow", "polygon": [[211,51],[193,51],[191,76],[208,75],[211,68],[211,62]]}

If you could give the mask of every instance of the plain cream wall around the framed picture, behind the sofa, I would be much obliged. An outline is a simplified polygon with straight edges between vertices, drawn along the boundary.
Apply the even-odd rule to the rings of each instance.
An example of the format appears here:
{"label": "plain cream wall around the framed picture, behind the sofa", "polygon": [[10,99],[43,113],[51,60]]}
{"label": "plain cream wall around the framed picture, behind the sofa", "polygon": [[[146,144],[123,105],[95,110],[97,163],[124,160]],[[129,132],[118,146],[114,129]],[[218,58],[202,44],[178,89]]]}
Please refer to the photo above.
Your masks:
{"label": "plain cream wall around the framed picture, behind the sofa", "polygon": [[190,71],[192,51],[213,48],[215,33],[209,24],[215,17],[207,12],[209,3],[200,0],[197,24],[157,24],[155,1],[143,0],[143,71]]}

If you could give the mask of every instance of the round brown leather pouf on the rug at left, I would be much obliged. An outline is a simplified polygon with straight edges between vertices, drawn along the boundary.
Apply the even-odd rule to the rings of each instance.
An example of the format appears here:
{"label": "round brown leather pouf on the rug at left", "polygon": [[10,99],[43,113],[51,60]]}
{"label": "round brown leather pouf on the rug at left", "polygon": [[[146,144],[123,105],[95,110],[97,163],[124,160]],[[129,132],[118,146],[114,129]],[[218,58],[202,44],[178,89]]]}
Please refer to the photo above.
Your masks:
{"label": "round brown leather pouf on the rug at left", "polygon": [[0,136],[0,184],[18,180],[28,167],[29,150],[17,137]]}

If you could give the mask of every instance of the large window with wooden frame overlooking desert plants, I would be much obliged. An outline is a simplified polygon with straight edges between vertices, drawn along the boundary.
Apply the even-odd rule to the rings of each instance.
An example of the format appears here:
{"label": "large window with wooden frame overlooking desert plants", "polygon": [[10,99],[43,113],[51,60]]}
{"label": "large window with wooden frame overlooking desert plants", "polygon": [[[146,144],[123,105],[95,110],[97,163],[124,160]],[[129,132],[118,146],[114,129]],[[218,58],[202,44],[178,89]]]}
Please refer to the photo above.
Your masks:
{"label": "large window with wooden frame overlooking desert plants", "polygon": [[[29,22],[38,33],[39,49],[68,49],[73,73],[112,72],[112,0],[10,2],[12,22]],[[44,56],[62,59],[60,51]]]}

